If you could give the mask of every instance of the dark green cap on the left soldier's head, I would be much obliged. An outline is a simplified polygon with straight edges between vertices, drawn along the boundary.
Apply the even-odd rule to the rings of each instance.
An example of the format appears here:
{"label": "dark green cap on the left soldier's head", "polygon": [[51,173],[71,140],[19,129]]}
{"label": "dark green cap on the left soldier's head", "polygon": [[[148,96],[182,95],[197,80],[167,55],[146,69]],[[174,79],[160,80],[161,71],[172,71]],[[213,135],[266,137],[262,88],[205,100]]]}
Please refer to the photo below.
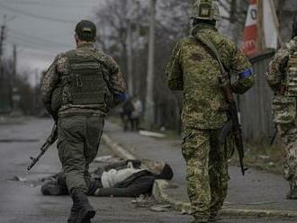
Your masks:
{"label": "dark green cap on the left soldier's head", "polygon": [[93,41],[96,37],[94,22],[82,20],[76,24],[76,35],[79,40]]}

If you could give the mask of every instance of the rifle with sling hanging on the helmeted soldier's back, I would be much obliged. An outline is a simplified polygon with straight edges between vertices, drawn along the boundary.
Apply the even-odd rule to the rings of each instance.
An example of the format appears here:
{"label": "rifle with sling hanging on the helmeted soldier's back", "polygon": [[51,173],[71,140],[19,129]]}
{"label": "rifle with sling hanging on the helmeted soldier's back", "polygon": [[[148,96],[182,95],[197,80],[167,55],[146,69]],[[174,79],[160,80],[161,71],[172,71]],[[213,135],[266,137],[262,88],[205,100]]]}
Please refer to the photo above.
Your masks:
{"label": "rifle with sling hanging on the helmeted soldier's back", "polygon": [[[219,83],[222,86],[222,89],[225,93],[226,101],[228,103],[227,116],[229,118],[229,121],[227,122],[227,124],[220,131],[219,139],[220,139],[220,143],[223,143],[225,142],[225,138],[229,135],[229,132],[233,133],[235,145],[238,150],[241,173],[244,175],[245,172],[247,171],[247,168],[245,168],[243,165],[243,159],[244,159],[245,153],[244,153],[243,140],[241,135],[241,126],[238,120],[238,109],[233,97],[230,80],[229,80],[229,73],[223,66],[220,59],[219,52],[215,48],[215,46],[211,43],[211,41],[205,40],[202,37],[202,35],[196,36],[196,39],[202,42],[202,44],[205,45],[208,49],[210,49],[211,53],[214,54],[215,58],[219,62],[220,73],[221,73],[219,77]],[[228,85],[226,85],[226,83],[228,83]]]}

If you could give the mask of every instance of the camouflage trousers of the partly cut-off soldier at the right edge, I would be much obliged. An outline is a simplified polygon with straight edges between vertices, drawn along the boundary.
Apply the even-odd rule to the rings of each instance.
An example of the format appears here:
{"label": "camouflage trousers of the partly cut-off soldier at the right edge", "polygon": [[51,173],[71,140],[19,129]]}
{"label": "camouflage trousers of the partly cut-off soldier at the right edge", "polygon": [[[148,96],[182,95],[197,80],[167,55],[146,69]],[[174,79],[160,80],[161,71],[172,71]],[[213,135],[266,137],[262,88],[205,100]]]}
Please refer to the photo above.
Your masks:
{"label": "camouflage trousers of the partly cut-off soldier at the right edge", "polygon": [[274,98],[274,121],[284,142],[284,178],[291,188],[297,187],[297,125],[296,98],[276,95]]}

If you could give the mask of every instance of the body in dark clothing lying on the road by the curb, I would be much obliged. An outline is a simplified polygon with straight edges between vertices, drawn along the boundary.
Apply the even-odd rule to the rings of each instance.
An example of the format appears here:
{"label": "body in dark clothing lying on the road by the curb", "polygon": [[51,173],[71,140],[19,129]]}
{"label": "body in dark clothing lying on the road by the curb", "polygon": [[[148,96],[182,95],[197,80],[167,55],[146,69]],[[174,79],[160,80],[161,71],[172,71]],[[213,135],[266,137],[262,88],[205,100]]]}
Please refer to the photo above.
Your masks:
{"label": "body in dark clothing lying on the road by the curb", "polygon": [[[170,165],[153,161],[128,160],[105,165],[92,174],[88,195],[99,197],[138,197],[150,194],[157,179],[171,180]],[[41,187],[43,195],[67,195],[66,177],[55,174]]]}

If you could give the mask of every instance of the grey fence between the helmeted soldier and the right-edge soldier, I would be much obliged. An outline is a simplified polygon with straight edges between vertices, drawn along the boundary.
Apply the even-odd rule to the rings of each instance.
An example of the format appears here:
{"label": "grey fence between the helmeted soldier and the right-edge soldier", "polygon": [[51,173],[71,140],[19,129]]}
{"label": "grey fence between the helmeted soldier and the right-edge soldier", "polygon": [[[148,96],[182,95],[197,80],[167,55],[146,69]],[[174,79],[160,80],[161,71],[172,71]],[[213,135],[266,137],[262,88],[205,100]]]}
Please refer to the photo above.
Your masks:
{"label": "grey fence between the helmeted soldier and the right-edge soldier", "polygon": [[255,86],[239,97],[240,119],[243,137],[247,142],[267,141],[274,135],[275,125],[272,118],[273,93],[266,83],[265,72],[275,50],[251,58],[257,74]]}

